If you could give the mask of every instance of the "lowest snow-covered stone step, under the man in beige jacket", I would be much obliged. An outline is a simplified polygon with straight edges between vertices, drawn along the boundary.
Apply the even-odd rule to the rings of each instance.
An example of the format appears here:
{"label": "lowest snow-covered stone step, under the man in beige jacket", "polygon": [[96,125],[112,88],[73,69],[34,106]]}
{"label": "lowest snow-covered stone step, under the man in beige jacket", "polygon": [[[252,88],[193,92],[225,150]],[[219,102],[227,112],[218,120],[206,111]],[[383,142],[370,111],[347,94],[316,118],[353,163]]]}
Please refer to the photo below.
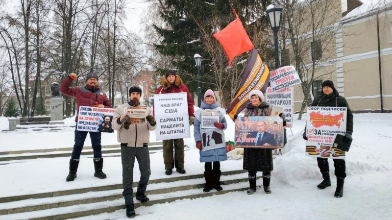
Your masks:
{"label": "lowest snow-covered stone step, under the man in beige jacket", "polygon": [[[224,182],[224,181],[223,181]],[[154,204],[162,204],[166,202],[173,202],[181,199],[194,199],[207,196],[223,195],[230,192],[245,191],[248,188],[247,181],[239,183],[232,183],[223,186],[223,190],[218,192],[213,190],[209,193],[203,193],[201,188],[181,190],[169,193],[149,195],[150,201],[147,203],[139,203],[134,199],[135,207],[151,206]],[[123,198],[115,200],[100,201],[88,204],[73,204],[72,206],[46,209],[39,211],[31,211],[24,213],[16,213],[10,215],[0,215],[0,220],[64,220],[70,218],[77,218],[83,216],[97,215],[106,212],[114,212],[117,210],[125,209]],[[125,214],[124,214],[125,216]]]}

